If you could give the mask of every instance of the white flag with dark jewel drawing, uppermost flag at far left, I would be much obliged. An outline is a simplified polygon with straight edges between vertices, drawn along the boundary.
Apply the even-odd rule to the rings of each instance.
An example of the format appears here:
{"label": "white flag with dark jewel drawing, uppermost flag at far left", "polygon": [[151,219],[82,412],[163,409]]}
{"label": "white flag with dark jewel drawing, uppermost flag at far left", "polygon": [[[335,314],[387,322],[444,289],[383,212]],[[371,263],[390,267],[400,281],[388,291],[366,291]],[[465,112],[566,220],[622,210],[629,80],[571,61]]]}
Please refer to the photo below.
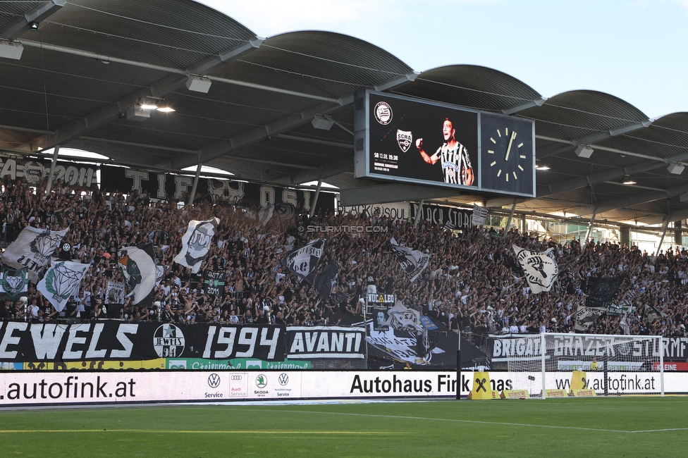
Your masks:
{"label": "white flag with dark jewel drawing, uppermost flag at far left", "polygon": [[50,256],[59,247],[69,228],[64,230],[24,228],[2,254],[4,264],[27,268],[29,280],[38,283],[38,272],[47,266]]}

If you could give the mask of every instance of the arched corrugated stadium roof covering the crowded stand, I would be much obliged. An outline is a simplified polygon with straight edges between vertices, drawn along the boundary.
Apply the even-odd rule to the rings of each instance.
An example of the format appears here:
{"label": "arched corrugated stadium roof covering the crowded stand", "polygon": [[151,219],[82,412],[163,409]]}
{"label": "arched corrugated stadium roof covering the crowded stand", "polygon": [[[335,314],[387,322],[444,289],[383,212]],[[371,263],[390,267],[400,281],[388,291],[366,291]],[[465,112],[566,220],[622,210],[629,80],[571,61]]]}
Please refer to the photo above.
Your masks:
{"label": "arched corrugated stadium roof covering the crowded stand", "polygon": [[[535,120],[537,198],[517,210],[658,224],[688,218],[688,113],[649,119],[609,94],[545,99],[491,68],[417,73],[361,39],[304,30],[263,39],[188,0],[0,4],[0,150],[85,149],[113,163],[179,171],[203,163],[235,178],[323,179],[343,202],[404,199],[511,206],[513,198],[353,176],[353,94],[376,89]],[[17,44],[20,44],[20,49]],[[4,53],[4,54],[3,54]],[[209,92],[187,88],[211,83]],[[192,78],[193,79],[193,78]],[[145,101],[173,113],[137,109]],[[314,115],[335,121],[317,130]],[[575,154],[589,145],[589,159]],[[637,184],[623,185],[628,175]],[[682,196],[686,197],[682,197]]]}

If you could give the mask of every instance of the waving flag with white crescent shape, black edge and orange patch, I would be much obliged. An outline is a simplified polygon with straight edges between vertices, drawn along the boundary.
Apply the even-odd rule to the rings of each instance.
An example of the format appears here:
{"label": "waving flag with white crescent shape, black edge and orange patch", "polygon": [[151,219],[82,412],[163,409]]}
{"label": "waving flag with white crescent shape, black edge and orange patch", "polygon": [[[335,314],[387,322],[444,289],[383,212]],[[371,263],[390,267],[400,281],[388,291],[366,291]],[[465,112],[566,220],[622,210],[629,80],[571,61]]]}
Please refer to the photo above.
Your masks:
{"label": "waving flag with white crescent shape, black edge and orange patch", "polygon": [[119,250],[118,263],[134,293],[134,304],[145,299],[155,287],[156,267],[153,256],[152,244],[123,247]]}

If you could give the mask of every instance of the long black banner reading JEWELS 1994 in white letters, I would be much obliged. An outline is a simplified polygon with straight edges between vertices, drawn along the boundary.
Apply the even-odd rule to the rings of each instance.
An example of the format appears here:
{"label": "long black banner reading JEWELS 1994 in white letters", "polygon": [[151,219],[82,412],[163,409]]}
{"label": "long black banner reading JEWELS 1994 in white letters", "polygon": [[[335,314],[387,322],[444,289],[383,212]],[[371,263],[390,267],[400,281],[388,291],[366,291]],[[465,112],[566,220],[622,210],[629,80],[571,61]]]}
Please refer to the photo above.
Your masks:
{"label": "long black banner reading JEWELS 1994 in white letters", "polygon": [[178,357],[284,359],[283,326],[0,321],[0,342],[0,361],[16,362]]}

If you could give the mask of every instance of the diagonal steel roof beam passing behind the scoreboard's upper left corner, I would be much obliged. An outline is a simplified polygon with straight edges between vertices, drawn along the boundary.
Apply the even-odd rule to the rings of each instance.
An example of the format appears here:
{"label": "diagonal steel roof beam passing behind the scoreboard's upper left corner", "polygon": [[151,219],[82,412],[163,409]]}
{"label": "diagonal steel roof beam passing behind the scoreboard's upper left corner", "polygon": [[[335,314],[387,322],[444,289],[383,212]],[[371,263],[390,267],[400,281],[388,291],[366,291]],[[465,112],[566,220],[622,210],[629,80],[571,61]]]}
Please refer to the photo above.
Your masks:
{"label": "diagonal steel roof beam passing behind the scoreboard's upper left corner", "polygon": [[[399,75],[398,77],[392,78],[386,82],[382,82],[380,85],[376,85],[373,89],[376,91],[384,91],[391,89],[393,87],[399,87],[405,85],[407,82],[411,82],[416,79],[417,73],[407,73],[406,75]],[[250,144],[262,142],[268,137],[276,137],[277,135],[297,128],[300,125],[310,122],[313,117],[317,114],[328,114],[340,109],[343,106],[352,104],[354,101],[354,94],[348,94],[346,97],[338,99],[337,103],[327,102],[325,104],[319,104],[310,109],[301,111],[300,113],[285,116],[274,120],[266,125],[261,125],[257,128],[247,130],[239,135],[228,140],[222,140],[214,144],[209,145],[202,149],[200,161],[207,163],[213,159],[217,159],[233,149],[238,149],[240,147],[245,147]],[[180,158],[171,162],[171,167],[173,168],[185,168],[194,165],[194,161],[188,158]]]}

